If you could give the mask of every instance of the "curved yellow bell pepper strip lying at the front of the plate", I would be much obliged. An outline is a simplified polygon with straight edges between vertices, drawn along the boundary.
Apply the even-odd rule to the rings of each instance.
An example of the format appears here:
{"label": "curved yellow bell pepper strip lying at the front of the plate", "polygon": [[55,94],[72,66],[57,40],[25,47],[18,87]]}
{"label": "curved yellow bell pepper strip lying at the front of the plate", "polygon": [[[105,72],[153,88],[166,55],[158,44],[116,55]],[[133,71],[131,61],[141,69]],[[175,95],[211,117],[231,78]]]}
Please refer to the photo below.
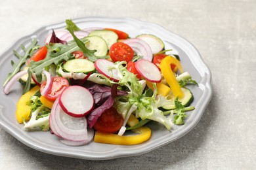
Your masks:
{"label": "curved yellow bell pepper strip lying at the front of the plate", "polygon": [[[127,124],[129,126],[134,126],[139,120],[135,118],[133,114],[129,117]],[[138,135],[127,135],[119,136],[113,133],[102,133],[100,131],[95,132],[95,143],[108,143],[108,144],[121,144],[121,145],[132,145],[143,143],[150,139],[151,129],[142,126],[137,129],[133,129],[133,132],[139,133]]]}

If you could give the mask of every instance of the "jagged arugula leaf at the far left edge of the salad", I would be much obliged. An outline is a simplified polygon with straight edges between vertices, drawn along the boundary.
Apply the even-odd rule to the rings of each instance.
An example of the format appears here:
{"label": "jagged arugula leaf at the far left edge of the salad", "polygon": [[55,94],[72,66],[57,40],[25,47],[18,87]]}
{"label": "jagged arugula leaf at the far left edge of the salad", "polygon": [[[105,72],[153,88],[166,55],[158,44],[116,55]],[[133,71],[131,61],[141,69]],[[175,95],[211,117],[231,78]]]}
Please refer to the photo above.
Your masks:
{"label": "jagged arugula leaf at the far left edge of the salad", "polygon": [[31,44],[28,46],[28,48],[26,48],[23,44],[21,45],[22,50],[24,51],[24,56],[20,56],[20,54],[18,54],[18,52],[16,52],[15,50],[13,51],[14,55],[19,59],[18,63],[14,63],[14,61],[11,61],[13,70],[11,73],[9,73],[9,75],[7,76],[7,79],[5,80],[3,86],[5,86],[7,84],[7,82],[9,82],[9,80],[11,80],[11,78],[16,75],[16,73],[18,73],[22,67],[22,65],[24,65],[26,63],[26,60],[28,58],[30,58],[30,55],[32,54],[33,50],[36,50],[37,44],[37,39],[32,39]]}

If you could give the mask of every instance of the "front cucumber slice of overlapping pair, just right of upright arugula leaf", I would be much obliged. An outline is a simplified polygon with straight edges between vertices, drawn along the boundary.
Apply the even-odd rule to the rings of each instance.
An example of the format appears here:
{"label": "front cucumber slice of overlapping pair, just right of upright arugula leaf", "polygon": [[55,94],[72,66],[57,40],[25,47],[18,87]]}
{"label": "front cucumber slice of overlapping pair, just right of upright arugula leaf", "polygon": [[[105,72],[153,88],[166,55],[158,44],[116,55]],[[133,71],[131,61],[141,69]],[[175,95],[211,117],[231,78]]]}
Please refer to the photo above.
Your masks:
{"label": "front cucumber slice of overlapping pair, just right of upright arugula leaf", "polygon": [[106,44],[106,41],[104,41],[104,39],[96,35],[85,37],[85,39],[89,40],[89,42],[85,43],[85,46],[89,50],[97,50],[95,52],[95,56],[106,56],[106,54],[108,53],[108,45]]}

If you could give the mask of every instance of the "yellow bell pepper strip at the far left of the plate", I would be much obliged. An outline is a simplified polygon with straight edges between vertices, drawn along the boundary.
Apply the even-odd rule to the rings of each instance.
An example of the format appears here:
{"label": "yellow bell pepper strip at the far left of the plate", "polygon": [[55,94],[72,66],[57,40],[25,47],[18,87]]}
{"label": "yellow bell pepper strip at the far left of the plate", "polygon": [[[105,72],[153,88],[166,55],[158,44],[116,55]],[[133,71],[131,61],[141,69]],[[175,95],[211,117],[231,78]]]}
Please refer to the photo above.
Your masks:
{"label": "yellow bell pepper strip at the far left of the plate", "polygon": [[27,105],[27,102],[30,100],[30,97],[34,95],[40,89],[39,86],[33,87],[30,91],[24,93],[22,97],[18,100],[17,109],[16,109],[16,120],[19,124],[23,123],[23,120],[30,120],[31,109]]}

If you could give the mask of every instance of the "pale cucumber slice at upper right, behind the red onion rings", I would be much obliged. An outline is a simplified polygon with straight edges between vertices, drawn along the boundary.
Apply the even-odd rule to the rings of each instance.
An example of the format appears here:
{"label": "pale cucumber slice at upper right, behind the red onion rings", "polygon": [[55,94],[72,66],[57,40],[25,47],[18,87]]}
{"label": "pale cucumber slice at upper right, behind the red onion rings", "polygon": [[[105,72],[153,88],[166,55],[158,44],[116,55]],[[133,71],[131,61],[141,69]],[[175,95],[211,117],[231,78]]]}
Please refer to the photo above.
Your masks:
{"label": "pale cucumber slice at upper right, behind the red onion rings", "polygon": [[163,41],[161,41],[161,39],[156,37],[155,35],[142,34],[138,35],[136,38],[142,39],[143,41],[147,42],[153,54],[161,52],[161,50],[163,50],[163,48],[165,47]]}

